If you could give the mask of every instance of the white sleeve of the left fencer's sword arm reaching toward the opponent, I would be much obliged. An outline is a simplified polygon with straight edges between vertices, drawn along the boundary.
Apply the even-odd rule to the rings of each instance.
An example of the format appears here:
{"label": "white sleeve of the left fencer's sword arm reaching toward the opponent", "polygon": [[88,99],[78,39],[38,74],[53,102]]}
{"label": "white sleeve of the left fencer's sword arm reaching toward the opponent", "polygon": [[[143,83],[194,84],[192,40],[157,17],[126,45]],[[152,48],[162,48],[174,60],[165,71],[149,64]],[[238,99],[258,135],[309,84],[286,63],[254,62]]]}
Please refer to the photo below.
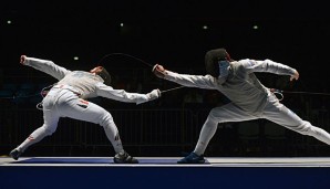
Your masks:
{"label": "white sleeve of the left fencer's sword arm reaching toward the opponent", "polygon": [[128,93],[124,90],[114,90],[111,86],[107,86],[103,83],[97,84],[96,94],[102,97],[125,102],[125,103],[136,103],[142,104],[161,96],[161,92],[154,90],[147,94],[140,94],[140,93]]}

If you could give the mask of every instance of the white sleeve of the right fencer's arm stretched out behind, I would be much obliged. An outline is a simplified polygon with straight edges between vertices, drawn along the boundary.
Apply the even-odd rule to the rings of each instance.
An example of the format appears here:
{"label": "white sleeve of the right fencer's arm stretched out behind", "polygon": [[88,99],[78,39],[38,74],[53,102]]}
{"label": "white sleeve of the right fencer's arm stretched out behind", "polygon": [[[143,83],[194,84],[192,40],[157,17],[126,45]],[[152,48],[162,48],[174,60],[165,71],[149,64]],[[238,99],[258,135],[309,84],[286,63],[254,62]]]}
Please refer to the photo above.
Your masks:
{"label": "white sleeve of the right fencer's arm stretched out behind", "polygon": [[281,63],[274,62],[271,60],[265,60],[265,61],[256,61],[256,60],[241,60],[240,61],[244,65],[244,67],[248,71],[248,73],[251,72],[268,72],[274,73],[278,75],[293,75],[296,70],[283,65]]}

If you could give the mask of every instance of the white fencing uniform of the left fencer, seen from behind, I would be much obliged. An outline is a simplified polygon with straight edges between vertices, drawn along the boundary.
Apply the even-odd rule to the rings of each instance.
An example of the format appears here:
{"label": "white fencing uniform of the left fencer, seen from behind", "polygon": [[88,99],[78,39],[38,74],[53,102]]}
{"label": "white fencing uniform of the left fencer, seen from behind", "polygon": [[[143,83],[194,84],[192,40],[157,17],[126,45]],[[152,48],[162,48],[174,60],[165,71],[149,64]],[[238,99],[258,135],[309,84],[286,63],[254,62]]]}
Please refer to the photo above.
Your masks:
{"label": "white fencing uniform of the left fencer, seen from behind", "polygon": [[115,153],[123,153],[120,134],[112,115],[99,105],[85,99],[103,96],[125,103],[141,104],[159,97],[158,90],[147,94],[114,90],[103,84],[102,77],[94,73],[69,71],[47,60],[27,57],[23,64],[48,73],[58,78],[59,82],[43,98],[44,124],[17,147],[19,151],[24,151],[29,146],[53,134],[60,117],[70,117],[103,126]]}

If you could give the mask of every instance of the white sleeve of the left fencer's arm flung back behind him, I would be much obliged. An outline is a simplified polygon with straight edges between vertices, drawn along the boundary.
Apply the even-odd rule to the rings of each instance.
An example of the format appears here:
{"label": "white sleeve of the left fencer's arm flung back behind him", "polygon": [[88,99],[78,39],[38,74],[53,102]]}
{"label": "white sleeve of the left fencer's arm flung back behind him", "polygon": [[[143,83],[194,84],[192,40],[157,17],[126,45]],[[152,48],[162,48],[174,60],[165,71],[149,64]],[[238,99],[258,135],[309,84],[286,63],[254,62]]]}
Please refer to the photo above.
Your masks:
{"label": "white sleeve of the left fencer's arm flung back behind him", "polygon": [[52,61],[48,60],[41,60],[35,57],[27,57],[23,62],[24,65],[29,65],[35,70],[39,70],[41,72],[44,72],[59,81],[62,80],[68,73],[71,71],[61,67],[56,64],[54,64]]}

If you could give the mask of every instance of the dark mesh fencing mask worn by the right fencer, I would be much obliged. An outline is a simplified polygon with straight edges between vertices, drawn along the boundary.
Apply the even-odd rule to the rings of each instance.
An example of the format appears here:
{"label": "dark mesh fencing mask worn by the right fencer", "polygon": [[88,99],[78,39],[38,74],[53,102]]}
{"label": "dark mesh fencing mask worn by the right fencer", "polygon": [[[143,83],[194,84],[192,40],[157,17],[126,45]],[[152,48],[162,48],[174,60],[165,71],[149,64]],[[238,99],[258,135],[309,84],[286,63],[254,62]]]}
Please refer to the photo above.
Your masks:
{"label": "dark mesh fencing mask worn by the right fencer", "polygon": [[225,49],[210,50],[205,54],[206,73],[214,77],[225,77],[228,75],[230,61],[231,59]]}

